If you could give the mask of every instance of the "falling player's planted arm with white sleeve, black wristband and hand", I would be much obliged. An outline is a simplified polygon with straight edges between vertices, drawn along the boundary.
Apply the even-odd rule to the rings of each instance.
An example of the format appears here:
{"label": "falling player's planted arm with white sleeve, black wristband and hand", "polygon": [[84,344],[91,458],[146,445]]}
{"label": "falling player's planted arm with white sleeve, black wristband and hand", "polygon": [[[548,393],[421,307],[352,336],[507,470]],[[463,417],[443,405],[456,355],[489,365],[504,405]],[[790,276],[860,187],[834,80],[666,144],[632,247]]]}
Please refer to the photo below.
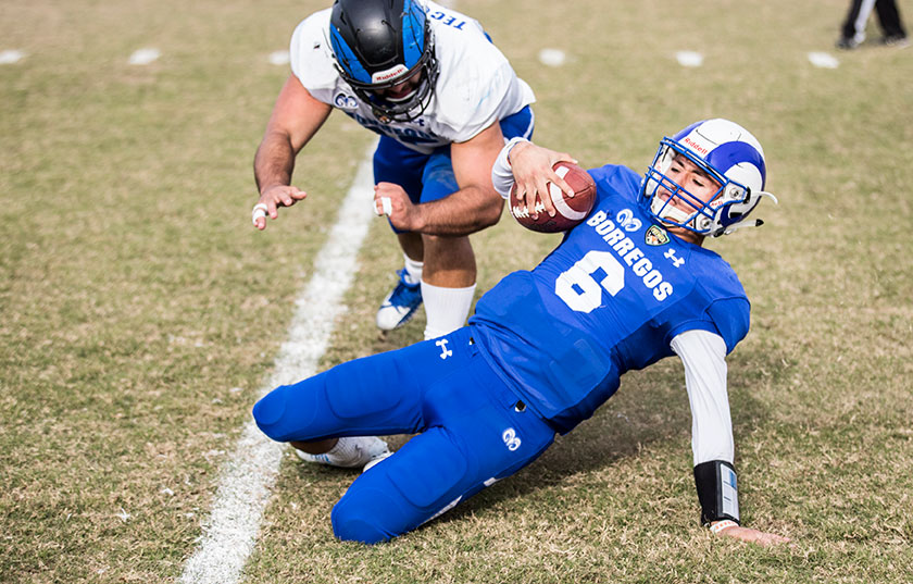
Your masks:
{"label": "falling player's planted arm with white sleeve, black wristband and hand", "polygon": [[733,467],[733,422],[726,392],[726,343],[708,331],[687,331],[672,339],[685,364],[691,406],[691,450],[701,522],[715,534],[771,545],[789,539],[739,524],[738,482]]}

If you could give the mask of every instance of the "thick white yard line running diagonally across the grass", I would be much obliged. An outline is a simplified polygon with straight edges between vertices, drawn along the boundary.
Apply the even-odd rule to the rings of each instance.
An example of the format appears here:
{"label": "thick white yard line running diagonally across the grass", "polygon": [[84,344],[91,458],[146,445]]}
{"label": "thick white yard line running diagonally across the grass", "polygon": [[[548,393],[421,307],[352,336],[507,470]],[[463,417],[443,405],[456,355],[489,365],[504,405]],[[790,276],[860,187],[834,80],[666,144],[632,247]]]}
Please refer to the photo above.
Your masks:
{"label": "thick white yard line running diagonally across the grass", "polygon": [[[374,179],[371,154],[359,165],[354,183],[339,209],[339,219],[314,262],[314,273],[296,300],[297,310],[273,375],[260,396],[278,385],[316,373],[345,306],[342,297],[357,272],[357,257],[373,216]],[[234,584],[253,551],[260,521],[279,470],[284,444],[267,438],[251,418],[218,481],[212,513],[203,524],[197,551],[184,567],[183,583]]]}

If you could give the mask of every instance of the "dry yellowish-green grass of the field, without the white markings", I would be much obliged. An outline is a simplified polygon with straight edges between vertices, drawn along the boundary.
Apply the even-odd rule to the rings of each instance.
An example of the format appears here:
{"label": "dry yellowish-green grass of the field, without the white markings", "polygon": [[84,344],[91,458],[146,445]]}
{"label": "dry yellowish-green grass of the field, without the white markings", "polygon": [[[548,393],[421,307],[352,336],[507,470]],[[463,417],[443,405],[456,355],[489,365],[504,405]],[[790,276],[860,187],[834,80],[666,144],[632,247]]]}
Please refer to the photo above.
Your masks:
{"label": "dry yellowish-green grass of the field, without the white markings", "polygon": [[[311,198],[251,227],[288,74],[267,55],[327,2],[0,4],[0,51],[26,53],[0,65],[0,582],[172,582],[193,552],[371,139],[334,115],[299,160]],[[753,306],[729,359],[742,518],[792,546],[698,525],[670,360],[536,464],[373,548],[333,538],[353,475],[287,455],[243,582],[913,580],[913,49],[831,51],[845,4],[458,2],[536,90],[537,141],[586,166],[641,171],[709,116],[761,139],[780,206],[710,247]],[[142,47],[161,59],[129,65]],[[479,293],[556,243],[509,216],[473,240]],[[384,222],[359,261],[323,366],[421,339],[421,319],[374,330],[399,266]]]}

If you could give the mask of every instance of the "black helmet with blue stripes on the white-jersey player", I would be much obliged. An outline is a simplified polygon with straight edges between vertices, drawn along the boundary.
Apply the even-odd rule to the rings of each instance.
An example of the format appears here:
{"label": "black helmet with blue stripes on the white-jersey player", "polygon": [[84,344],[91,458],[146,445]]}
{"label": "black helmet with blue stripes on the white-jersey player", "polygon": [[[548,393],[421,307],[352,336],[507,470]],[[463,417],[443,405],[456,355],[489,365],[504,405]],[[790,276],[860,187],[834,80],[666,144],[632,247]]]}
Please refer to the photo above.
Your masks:
{"label": "black helmet with blue stripes on the white-jersey player", "polygon": [[[438,77],[435,42],[424,7],[416,0],[336,0],[329,20],[336,69],[382,122],[422,115]],[[421,75],[396,100],[377,92]]]}

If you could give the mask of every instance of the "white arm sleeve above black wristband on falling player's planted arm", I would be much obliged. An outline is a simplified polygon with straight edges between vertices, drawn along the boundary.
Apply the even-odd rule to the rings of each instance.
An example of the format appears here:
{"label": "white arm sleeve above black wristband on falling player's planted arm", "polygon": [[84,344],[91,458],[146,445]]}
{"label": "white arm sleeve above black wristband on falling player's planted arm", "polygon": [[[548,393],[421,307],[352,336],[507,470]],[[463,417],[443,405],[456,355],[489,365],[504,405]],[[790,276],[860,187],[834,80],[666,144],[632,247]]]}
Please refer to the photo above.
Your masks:
{"label": "white arm sleeve above black wristband on falling player's planted arm", "polygon": [[720,335],[693,330],[673,338],[672,350],[685,364],[695,465],[710,460],[731,464],[735,444],[726,393],[726,343]]}

